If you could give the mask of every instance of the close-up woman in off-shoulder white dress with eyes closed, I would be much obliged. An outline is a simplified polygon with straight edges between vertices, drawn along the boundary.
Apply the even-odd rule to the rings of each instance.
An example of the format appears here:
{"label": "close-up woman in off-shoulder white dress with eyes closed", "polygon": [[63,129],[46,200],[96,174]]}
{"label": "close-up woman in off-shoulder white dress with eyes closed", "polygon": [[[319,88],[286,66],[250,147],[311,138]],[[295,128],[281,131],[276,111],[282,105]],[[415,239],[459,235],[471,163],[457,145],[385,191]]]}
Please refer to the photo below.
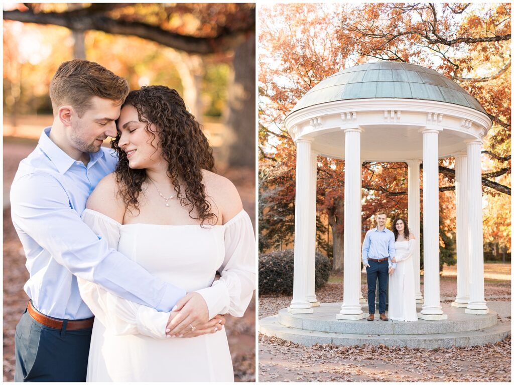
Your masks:
{"label": "close-up woman in off-shoulder white dress with eyes closed", "polygon": [[[117,127],[118,166],[90,195],[83,221],[158,278],[201,296],[212,332],[216,314],[242,317],[255,287],[253,228],[235,187],[212,172],[198,122],[174,89],[150,86],[131,91]],[[224,329],[196,336],[203,326],[188,319],[167,329],[174,312],[79,286],[95,314],[88,381],[233,381]]]}

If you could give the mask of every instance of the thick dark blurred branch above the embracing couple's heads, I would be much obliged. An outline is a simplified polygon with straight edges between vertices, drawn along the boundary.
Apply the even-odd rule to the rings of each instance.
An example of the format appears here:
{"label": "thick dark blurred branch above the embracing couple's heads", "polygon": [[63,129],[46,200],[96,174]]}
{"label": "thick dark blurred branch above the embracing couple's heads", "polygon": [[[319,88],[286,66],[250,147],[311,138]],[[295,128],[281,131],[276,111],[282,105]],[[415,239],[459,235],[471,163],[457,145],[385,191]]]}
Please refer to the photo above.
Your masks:
{"label": "thick dark blurred branch above the embracing couple's heads", "polygon": [[[59,12],[35,14],[30,10],[24,12],[13,10],[4,11],[4,19],[23,23],[53,24],[79,31],[97,30],[120,35],[134,35],[167,47],[200,54],[230,50],[241,44],[246,39],[246,35],[254,32],[255,29],[255,19],[253,17],[252,23],[249,23],[240,31],[224,31],[215,38],[195,38],[194,36],[169,32],[145,23],[114,20],[108,16],[98,14],[81,13],[80,15],[74,15],[72,12],[74,11],[68,12],[71,15]],[[84,12],[84,10],[77,10],[76,12]]]}

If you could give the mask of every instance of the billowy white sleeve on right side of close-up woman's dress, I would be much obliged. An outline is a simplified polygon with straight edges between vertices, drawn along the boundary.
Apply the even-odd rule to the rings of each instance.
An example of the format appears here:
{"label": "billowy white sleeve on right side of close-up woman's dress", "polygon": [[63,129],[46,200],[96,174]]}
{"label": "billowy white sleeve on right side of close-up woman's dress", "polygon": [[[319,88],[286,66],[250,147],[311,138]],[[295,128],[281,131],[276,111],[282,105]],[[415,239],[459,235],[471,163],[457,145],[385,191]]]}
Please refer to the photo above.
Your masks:
{"label": "billowy white sleeve on right side of close-up woman's dress", "polygon": [[250,217],[242,210],[224,226],[221,278],[211,287],[197,290],[207,303],[210,319],[227,313],[243,317],[255,289],[255,236]]}

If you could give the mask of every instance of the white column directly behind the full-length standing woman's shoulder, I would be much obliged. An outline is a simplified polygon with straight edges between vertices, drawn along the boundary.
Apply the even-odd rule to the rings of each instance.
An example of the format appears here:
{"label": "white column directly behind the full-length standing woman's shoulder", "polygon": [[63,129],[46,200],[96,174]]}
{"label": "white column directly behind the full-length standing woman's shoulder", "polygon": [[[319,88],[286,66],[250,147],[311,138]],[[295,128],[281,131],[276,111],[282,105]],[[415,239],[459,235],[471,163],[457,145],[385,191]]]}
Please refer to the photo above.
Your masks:
{"label": "white column directly behind the full-length standing woman's shoulder", "polygon": [[423,295],[421,294],[421,283],[420,283],[420,247],[419,242],[419,164],[421,160],[411,159],[407,161],[408,174],[409,174],[409,203],[408,203],[408,215],[409,215],[409,231],[416,237],[417,247],[413,255],[413,267],[414,267],[414,289],[416,290],[416,303],[423,303]]}

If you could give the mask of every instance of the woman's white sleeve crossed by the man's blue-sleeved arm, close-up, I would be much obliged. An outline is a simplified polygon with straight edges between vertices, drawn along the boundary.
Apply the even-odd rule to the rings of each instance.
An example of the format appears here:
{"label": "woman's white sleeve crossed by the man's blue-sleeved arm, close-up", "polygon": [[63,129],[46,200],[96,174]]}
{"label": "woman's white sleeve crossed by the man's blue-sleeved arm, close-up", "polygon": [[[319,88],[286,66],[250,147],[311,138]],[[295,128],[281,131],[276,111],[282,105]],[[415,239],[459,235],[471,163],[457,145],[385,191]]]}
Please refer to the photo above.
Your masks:
{"label": "woman's white sleeve crossed by the man's blue-sleeved arm, close-up", "polygon": [[[121,225],[97,211],[84,210],[82,220],[109,247],[118,249]],[[142,334],[152,338],[166,338],[169,313],[125,300],[102,286],[77,277],[80,295],[95,317],[115,334]]]}

